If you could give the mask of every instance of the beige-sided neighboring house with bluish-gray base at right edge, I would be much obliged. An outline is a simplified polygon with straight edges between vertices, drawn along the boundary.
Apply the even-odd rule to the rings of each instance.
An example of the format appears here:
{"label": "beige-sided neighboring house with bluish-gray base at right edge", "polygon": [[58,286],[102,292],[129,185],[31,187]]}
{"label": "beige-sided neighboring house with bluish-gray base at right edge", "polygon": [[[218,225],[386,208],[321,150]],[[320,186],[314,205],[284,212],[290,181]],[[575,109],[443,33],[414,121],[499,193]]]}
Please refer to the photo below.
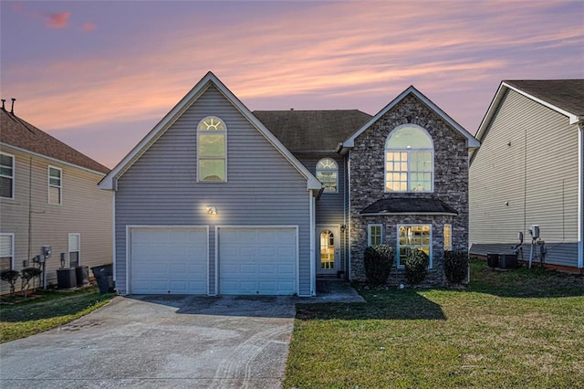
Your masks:
{"label": "beige-sided neighboring house with bluish-gray base at right edge", "polygon": [[[584,268],[584,79],[503,81],[471,158],[471,252],[510,252],[539,226],[545,262]],[[521,259],[521,256],[519,257]]]}

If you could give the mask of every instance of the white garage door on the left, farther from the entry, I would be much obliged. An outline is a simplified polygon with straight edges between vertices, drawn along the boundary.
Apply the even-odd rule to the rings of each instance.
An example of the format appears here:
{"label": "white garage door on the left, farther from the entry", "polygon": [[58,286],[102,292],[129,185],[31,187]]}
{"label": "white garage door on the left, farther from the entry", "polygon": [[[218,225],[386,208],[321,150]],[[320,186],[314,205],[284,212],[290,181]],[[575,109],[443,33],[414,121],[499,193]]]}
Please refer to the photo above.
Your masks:
{"label": "white garage door on the left, farther from the entry", "polygon": [[130,231],[130,293],[207,293],[206,228]]}

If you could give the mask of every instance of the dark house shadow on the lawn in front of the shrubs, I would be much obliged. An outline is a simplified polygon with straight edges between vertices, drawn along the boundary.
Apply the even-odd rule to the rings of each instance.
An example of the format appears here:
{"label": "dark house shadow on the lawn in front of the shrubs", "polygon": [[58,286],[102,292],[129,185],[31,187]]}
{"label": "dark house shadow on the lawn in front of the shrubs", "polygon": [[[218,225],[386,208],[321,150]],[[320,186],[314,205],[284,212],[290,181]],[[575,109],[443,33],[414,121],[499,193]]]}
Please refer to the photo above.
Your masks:
{"label": "dark house shadow on the lawn in front of the shrubs", "polygon": [[416,290],[360,290],[366,302],[297,304],[298,320],[429,320],[445,321],[440,305]]}

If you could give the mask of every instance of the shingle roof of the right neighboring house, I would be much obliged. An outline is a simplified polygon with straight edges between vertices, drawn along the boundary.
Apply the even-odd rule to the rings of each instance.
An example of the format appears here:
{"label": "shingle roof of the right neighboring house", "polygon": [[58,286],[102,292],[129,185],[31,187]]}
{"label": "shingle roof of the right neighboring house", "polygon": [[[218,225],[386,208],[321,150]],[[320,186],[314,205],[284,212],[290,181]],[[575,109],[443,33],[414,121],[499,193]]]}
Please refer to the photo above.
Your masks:
{"label": "shingle roof of the right neighboring house", "polygon": [[576,116],[584,116],[584,79],[523,79],[504,82]]}

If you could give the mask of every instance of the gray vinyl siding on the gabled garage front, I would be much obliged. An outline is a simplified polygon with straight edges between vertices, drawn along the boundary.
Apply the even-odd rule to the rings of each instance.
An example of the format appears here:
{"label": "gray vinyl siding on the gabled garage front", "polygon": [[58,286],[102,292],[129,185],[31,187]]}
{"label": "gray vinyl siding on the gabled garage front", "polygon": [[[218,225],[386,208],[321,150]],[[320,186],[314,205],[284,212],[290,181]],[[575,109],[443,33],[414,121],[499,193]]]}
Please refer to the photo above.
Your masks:
{"label": "gray vinyl siding on the gabled garage front", "polygon": [[[196,127],[213,115],[227,126],[227,182],[196,182]],[[214,205],[216,216],[205,212]],[[215,285],[215,226],[298,226],[299,294],[310,295],[307,179],[214,87],[207,89],[124,173],[116,193],[116,285],[126,286],[126,226],[209,226],[209,293]]]}

